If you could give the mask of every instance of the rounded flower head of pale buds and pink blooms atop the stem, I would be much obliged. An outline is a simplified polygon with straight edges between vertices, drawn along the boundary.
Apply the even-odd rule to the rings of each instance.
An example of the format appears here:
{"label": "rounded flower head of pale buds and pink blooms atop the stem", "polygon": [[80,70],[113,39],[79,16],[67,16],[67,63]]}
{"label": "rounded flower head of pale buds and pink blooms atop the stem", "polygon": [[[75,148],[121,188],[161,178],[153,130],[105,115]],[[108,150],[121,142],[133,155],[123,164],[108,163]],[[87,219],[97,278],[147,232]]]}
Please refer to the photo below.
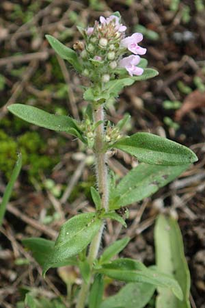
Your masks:
{"label": "rounded flower head of pale buds and pink blooms atop the stem", "polygon": [[[78,42],[74,48],[81,52],[83,75],[91,81],[106,83],[115,79],[116,68],[125,68],[131,76],[143,73],[143,69],[137,67],[141,60],[139,55],[146,53],[146,49],[138,45],[143,36],[135,33],[125,37],[125,31],[126,26],[115,15],[108,18],[100,16],[100,21],[96,21],[94,27],[81,31],[85,44]],[[133,55],[124,57],[129,51]]]}

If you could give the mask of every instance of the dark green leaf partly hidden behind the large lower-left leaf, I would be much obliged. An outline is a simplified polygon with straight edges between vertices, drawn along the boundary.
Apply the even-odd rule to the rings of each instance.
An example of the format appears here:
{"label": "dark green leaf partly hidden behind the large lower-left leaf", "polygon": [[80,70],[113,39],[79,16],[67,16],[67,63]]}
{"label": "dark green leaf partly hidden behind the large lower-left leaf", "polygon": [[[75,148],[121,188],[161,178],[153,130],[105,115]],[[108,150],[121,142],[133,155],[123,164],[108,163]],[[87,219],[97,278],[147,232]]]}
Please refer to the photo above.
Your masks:
{"label": "dark green leaf partly hidden behind the large lower-left leaf", "polygon": [[[40,266],[43,266],[45,261],[48,259],[51,251],[55,246],[55,242],[46,240],[44,238],[25,238],[22,240],[23,245],[32,252],[33,258],[36,259]],[[67,265],[77,265],[76,257],[70,257],[65,261],[58,262],[55,264],[55,268]]]}

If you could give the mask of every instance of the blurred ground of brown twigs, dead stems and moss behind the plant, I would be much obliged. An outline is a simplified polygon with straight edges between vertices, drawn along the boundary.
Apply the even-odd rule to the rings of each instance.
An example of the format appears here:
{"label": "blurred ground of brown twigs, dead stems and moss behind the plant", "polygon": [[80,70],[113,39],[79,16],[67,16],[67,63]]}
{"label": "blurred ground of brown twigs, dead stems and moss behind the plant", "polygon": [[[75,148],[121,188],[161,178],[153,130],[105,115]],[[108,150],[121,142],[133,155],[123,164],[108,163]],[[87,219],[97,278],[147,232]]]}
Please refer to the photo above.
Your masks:
{"label": "blurred ground of brown twigs, dead stems and moss behind the plant", "polygon": [[[44,36],[51,34],[72,48],[81,39],[77,26],[87,27],[115,11],[122,15],[127,34],[143,34],[145,57],[159,76],[126,88],[115,102],[109,102],[107,118],[117,123],[124,114],[131,114],[129,134],[147,131],[166,136],[189,146],[199,162],[152,198],[132,205],[128,229],[109,221],[103,244],[126,233],[132,241],[124,257],[153,264],[154,219],[160,209],[171,210],[178,216],[191,271],[192,307],[205,307],[203,0],[1,0],[0,196],[16,153],[23,154],[23,170],[0,229],[1,307],[24,307],[21,300],[28,290],[53,300],[59,294],[66,296],[72,283],[79,283],[74,268],[50,270],[42,279],[39,266],[20,240],[25,236],[55,239],[62,222],[85,208],[92,210],[90,186],[94,185],[92,153],[82,144],[64,133],[29,125],[8,114],[7,107],[25,103],[81,119],[86,107],[81,85],[86,80],[55,55]],[[120,153],[109,159],[109,168],[119,178],[136,164]],[[108,285],[107,294],[119,287],[119,282]]]}

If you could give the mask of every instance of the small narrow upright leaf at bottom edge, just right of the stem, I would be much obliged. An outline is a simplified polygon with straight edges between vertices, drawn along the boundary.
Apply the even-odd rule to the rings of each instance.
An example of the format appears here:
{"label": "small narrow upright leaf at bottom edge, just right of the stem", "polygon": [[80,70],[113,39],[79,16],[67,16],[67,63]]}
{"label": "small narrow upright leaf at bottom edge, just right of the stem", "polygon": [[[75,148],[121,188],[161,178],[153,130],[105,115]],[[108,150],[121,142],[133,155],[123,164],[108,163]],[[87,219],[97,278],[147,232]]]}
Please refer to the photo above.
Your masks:
{"label": "small narrow upright leaf at bottom edge, just right of the stem", "polygon": [[102,302],[103,290],[104,290],[104,280],[102,278],[102,275],[96,274],[88,298],[89,308],[100,307],[100,303]]}

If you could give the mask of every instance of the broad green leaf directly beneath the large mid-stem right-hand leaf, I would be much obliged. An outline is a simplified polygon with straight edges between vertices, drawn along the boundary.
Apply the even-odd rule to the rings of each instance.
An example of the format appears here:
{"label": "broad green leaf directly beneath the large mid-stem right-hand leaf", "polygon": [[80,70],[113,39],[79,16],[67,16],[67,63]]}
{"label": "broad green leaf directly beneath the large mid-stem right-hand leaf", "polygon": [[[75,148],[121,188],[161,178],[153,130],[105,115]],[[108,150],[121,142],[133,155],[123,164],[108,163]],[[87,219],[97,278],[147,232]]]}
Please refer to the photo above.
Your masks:
{"label": "broad green leaf directly beneath the large mid-stem right-hand leaf", "polygon": [[119,209],[139,202],[173,181],[190,165],[157,166],[139,164],[120,181],[110,193],[109,208]]}

